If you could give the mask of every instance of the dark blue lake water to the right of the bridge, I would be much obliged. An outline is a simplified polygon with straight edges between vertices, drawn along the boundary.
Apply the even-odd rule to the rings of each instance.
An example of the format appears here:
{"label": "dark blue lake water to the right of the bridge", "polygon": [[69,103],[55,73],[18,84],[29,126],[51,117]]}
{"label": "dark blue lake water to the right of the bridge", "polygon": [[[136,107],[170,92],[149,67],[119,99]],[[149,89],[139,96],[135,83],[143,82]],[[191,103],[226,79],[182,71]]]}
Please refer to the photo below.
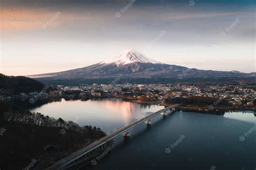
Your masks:
{"label": "dark blue lake water to the right of the bridge", "polygon": [[[255,112],[247,114],[254,117]],[[89,164],[82,169],[187,170],[210,169],[212,165],[218,170],[255,168],[256,133],[243,142],[239,140],[253,123],[193,112],[175,112],[166,119],[157,115],[151,120],[150,130],[139,124],[129,131],[129,140],[124,141],[119,135],[110,154],[96,166]],[[165,148],[173,145],[181,134],[186,138],[166,154]]]}

